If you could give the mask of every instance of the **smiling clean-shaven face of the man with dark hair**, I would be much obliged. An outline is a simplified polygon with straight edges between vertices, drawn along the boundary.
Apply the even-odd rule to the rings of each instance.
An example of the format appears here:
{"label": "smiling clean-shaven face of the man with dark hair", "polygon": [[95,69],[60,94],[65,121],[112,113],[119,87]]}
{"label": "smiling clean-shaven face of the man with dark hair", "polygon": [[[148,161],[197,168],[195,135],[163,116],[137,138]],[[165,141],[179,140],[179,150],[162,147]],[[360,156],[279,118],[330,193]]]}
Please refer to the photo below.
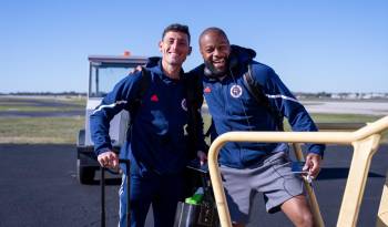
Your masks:
{"label": "smiling clean-shaven face of the man with dark hair", "polygon": [[171,66],[182,66],[191,52],[188,37],[183,32],[169,31],[159,43],[163,63]]}

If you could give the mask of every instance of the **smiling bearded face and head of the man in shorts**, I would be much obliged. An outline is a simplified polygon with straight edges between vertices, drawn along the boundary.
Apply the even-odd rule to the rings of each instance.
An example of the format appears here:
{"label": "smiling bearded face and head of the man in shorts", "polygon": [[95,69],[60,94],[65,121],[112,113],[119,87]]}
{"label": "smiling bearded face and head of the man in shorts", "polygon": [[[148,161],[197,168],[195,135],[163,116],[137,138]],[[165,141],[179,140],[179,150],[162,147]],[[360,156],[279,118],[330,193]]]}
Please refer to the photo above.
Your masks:
{"label": "smiling bearded face and head of the man in shorts", "polygon": [[225,74],[228,66],[231,45],[226,35],[217,31],[207,31],[200,40],[201,54],[206,66],[215,75]]}

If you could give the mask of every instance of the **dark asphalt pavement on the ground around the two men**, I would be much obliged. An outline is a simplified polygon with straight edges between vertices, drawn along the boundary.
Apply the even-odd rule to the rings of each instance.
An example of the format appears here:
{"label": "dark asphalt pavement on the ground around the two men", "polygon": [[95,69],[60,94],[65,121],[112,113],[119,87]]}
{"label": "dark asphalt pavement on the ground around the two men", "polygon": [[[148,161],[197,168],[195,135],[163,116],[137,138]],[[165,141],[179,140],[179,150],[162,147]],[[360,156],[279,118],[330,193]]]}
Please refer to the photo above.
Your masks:
{"label": "dark asphalt pavement on the ground around the two men", "polygon": [[[387,173],[388,145],[372,158],[358,226],[375,226]],[[0,226],[100,226],[98,174],[92,185],[75,179],[75,146],[0,144]],[[336,226],[351,147],[329,146],[314,188],[326,226]],[[110,176],[106,186],[106,226],[116,226],[120,180]],[[256,196],[249,227],[292,226],[282,214],[268,215]],[[152,226],[152,215],[146,226]]]}

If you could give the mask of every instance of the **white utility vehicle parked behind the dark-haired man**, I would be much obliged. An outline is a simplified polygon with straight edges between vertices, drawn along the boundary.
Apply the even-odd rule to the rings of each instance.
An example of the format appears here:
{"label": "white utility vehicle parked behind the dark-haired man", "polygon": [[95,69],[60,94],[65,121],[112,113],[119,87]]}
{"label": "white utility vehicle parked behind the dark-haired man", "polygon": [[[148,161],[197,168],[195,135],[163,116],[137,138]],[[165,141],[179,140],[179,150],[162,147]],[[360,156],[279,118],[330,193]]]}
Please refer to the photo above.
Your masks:
{"label": "white utility vehicle parked behind the dark-haired man", "polygon": [[[99,169],[99,163],[93,153],[93,142],[90,134],[90,115],[120,80],[127,76],[134,68],[144,65],[146,62],[147,58],[144,56],[89,56],[89,91],[85,124],[84,128],[80,130],[76,141],[76,177],[81,184],[92,183],[94,173]],[[110,136],[114,151],[120,151],[120,147],[125,141],[129,120],[129,113],[122,111],[111,121]]]}

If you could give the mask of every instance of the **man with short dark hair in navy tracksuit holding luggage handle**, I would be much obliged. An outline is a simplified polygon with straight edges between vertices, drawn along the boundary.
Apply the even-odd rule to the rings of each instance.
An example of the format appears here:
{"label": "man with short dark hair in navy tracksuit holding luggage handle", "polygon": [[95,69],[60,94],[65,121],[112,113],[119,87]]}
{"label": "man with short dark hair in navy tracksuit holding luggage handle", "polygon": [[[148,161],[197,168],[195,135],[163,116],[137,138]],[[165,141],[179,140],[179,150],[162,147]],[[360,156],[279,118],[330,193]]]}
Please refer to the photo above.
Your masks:
{"label": "man with short dark hair in navy tracksuit holding luggage handle", "polygon": [[[137,71],[120,81],[91,115],[91,132],[95,154],[101,166],[116,168],[119,157],[112,151],[109,137],[110,121],[122,110],[133,117],[127,141],[120,152],[121,158],[131,159],[131,169],[124,168],[120,188],[120,224],[126,225],[126,183],[131,175],[131,226],[142,227],[152,204],[155,226],[173,226],[178,199],[183,196],[183,169],[188,148],[184,134],[190,125],[186,85],[182,64],[191,53],[186,25],[169,25],[159,43],[162,58],[147,68],[150,83],[140,96],[142,72]],[[141,100],[134,110],[133,104]],[[198,110],[197,110],[198,112]],[[202,124],[200,124],[202,125]],[[200,131],[197,131],[200,133]],[[201,132],[202,134],[202,132]],[[198,134],[195,151],[205,154]],[[195,154],[194,154],[195,156]]]}

